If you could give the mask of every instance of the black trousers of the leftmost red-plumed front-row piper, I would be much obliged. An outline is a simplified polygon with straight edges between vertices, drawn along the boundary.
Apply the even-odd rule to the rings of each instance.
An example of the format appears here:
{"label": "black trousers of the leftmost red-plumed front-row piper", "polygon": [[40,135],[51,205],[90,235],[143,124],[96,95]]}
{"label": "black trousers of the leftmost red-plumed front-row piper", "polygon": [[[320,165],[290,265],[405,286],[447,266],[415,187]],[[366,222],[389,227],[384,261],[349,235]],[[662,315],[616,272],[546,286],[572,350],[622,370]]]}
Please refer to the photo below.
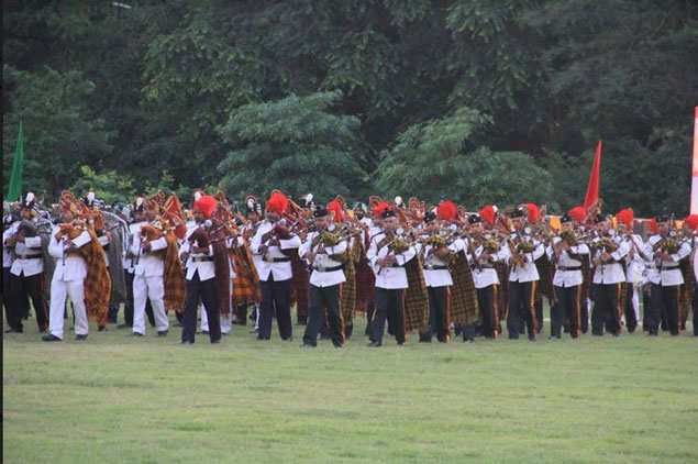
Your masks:
{"label": "black trousers of the leftmost red-plumed front-row piper", "polygon": [[209,318],[211,343],[221,340],[221,314],[215,278],[200,280],[197,270],[191,280],[185,283],[185,320],[181,328],[181,341],[193,343],[193,335],[197,332],[197,309],[200,301],[203,302],[203,309]]}

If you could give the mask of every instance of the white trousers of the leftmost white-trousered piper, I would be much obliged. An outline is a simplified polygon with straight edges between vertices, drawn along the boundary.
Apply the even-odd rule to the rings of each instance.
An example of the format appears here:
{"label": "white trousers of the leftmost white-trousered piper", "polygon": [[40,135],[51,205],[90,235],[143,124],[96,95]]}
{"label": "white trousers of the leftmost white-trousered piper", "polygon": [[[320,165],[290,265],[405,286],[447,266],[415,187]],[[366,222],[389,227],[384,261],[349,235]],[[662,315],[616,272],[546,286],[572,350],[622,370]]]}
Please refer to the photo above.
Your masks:
{"label": "white trousers of the leftmost white-trousered piper", "polygon": [[48,332],[63,340],[63,314],[66,310],[66,297],[73,301],[75,313],[75,333],[87,335],[87,309],[85,308],[85,286],[82,280],[51,280],[51,308]]}

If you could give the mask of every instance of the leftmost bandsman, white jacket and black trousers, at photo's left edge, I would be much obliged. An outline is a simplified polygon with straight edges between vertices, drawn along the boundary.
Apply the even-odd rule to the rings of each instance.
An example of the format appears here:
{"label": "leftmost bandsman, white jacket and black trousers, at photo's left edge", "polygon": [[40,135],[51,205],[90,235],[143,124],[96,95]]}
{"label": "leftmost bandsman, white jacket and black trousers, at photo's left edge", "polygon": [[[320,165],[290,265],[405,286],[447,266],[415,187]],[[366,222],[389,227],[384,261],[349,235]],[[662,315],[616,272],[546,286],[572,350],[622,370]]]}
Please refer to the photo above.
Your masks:
{"label": "leftmost bandsman, white jacket and black trousers, at photo's left edge", "polygon": [[[27,298],[32,299],[38,331],[44,333],[48,328],[48,311],[44,296],[44,256],[42,236],[37,231],[37,208],[34,194],[29,192],[20,206],[21,221],[5,245],[14,248],[12,267],[10,268],[10,291],[13,301],[11,318],[8,324],[15,332],[22,332],[22,318],[29,308]],[[45,243],[45,242],[44,242]]]}

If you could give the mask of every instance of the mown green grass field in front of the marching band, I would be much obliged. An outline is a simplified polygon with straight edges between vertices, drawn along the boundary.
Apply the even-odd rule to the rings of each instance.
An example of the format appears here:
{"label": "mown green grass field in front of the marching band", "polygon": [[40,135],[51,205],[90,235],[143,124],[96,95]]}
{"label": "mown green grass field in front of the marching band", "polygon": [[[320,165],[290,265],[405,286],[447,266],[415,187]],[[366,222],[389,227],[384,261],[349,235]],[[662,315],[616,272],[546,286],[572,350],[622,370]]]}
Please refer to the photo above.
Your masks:
{"label": "mown green grass field in front of the marching band", "polygon": [[[3,339],[3,460],[698,462],[698,339]],[[693,333],[693,332],[691,332]]]}

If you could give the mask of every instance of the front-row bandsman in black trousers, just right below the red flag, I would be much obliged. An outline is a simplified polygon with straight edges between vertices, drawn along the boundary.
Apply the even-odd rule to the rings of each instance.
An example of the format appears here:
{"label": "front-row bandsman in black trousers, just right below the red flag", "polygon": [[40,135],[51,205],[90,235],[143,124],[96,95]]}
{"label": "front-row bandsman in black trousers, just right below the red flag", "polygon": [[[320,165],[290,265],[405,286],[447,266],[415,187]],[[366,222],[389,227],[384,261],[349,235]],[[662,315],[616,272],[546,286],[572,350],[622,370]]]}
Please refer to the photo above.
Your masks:
{"label": "front-row bandsman in black trousers, just right below the red flag", "polygon": [[625,281],[623,259],[630,251],[627,240],[618,235],[607,216],[596,218],[598,236],[591,247],[595,250],[594,272],[594,313],[591,314],[591,333],[603,335],[603,325],[614,336],[621,332],[620,299]]}

